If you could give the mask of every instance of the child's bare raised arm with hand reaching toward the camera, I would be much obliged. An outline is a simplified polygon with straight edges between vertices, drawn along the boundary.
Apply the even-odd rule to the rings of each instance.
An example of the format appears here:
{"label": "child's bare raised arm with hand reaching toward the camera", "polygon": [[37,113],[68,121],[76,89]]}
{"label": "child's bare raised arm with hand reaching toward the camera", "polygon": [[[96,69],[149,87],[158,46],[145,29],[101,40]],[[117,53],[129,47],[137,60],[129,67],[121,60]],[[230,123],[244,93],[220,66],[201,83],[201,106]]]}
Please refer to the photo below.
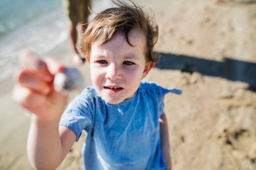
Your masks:
{"label": "child's bare raised arm with hand reaching toward the camera", "polygon": [[75,133],[58,126],[67,96],[53,88],[53,78],[64,69],[55,59],[41,60],[33,52],[20,54],[21,68],[14,73],[13,99],[31,111],[27,153],[35,169],[56,169],[67,156]]}

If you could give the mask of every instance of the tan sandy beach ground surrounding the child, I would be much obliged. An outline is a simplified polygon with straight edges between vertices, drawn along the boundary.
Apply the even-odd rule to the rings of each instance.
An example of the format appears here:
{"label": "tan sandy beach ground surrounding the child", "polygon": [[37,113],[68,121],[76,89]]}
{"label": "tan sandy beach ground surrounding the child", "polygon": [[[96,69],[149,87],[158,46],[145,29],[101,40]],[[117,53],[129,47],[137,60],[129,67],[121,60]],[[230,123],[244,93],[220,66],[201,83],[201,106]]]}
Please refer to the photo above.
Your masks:
{"label": "tan sandy beach ground surrounding the child", "polygon": [[[145,81],[166,88],[173,170],[256,170],[256,1],[142,0],[159,24],[162,58]],[[44,54],[70,66],[70,40]],[[86,86],[88,63],[79,67]],[[30,113],[0,84],[0,170],[32,170],[26,155]],[[76,94],[70,96],[70,102]],[[81,170],[76,142],[58,170]]]}

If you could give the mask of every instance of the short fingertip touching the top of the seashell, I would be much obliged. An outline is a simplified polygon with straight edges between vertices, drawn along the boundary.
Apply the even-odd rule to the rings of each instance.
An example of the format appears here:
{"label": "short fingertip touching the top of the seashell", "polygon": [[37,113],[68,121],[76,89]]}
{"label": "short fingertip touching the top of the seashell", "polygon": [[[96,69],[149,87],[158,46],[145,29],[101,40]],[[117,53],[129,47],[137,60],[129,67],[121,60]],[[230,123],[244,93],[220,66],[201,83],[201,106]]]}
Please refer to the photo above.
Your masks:
{"label": "short fingertip touching the top of the seashell", "polygon": [[55,74],[57,74],[59,72],[62,72],[65,69],[64,65],[59,60],[57,60],[55,58],[46,57],[44,59],[44,61],[46,62],[48,71],[52,75],[55,75]]}

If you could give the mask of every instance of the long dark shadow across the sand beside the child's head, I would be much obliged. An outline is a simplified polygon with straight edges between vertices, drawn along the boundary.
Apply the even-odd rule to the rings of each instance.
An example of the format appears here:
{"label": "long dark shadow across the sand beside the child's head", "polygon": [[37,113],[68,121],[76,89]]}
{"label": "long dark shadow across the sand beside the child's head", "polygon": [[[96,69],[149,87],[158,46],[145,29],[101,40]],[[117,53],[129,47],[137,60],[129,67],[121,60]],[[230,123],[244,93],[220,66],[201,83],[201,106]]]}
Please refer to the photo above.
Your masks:
{"label": "long dark shadow across the sand beside the child's head", "polygon": [[199,72],[233,81],[247,82],[250,84],[250,90],[256,91],[256,63],[228,58],[225,58],[223,62],[218,62],[184,55],[160,54],[162,57],[156,63],[156,68],[180,70],[189,73]]}

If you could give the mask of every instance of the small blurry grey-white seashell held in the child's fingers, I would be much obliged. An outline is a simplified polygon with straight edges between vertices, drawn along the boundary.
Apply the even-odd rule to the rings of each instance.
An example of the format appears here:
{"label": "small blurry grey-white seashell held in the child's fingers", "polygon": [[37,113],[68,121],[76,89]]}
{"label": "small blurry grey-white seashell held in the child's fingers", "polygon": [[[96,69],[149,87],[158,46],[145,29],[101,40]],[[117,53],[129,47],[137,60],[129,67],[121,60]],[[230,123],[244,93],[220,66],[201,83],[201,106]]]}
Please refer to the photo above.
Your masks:
{"label": "small blurry grey-white seashell held in the child's fingers", "polygon": [[53,85],[55,91],[70,94],[84,87],[84,78],[77,68],[65,68],[63,72],[55,75]]}

